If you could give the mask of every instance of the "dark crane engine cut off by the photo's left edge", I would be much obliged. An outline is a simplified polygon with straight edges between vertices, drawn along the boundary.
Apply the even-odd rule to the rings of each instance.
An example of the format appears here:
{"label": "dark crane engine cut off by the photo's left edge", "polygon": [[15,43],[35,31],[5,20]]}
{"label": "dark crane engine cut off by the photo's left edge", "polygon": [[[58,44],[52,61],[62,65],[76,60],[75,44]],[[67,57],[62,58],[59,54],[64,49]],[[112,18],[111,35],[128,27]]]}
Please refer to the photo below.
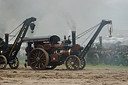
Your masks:
{"label": "dark crane engine cut off by the photo's left edge", "polygon": [[25,37],[28,28],[30,27],[33,32],[35,27],[35,24],[33,23],[34,21],[36,21],[36,18],[31,17],[26,19],[21,24],[23,26],[20,29],[13,44],[8,44],[9,34],[5,34],[5,42],[2,38],[0,38],[0,69],[6,68],[7,64],[9,64],[11,69],[18,68],[19,60],[17,53],[20,50],[23,38]]}

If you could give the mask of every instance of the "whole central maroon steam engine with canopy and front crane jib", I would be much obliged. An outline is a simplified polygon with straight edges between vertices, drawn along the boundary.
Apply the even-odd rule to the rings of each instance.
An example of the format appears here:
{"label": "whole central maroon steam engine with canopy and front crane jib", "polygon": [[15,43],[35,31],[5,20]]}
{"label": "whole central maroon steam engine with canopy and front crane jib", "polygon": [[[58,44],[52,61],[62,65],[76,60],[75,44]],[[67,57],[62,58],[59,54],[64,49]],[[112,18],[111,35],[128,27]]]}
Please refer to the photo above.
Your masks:
{"label": "whole central maroon steam engine with canopy and front crane jib", "polygon": [[106,24],[112,24],[112,22],[102,20],[85,48],[75,44],[75,32],[72,33],[72,45],[70,45],[70,40],[59,43],[60,38],[56,35],[24,38],[24,42],[27,42],[26,62],[28,66],[32,69],[54,69],[56,66],[65,63],[69,70],[83,69],[86,65],[86,53]]}

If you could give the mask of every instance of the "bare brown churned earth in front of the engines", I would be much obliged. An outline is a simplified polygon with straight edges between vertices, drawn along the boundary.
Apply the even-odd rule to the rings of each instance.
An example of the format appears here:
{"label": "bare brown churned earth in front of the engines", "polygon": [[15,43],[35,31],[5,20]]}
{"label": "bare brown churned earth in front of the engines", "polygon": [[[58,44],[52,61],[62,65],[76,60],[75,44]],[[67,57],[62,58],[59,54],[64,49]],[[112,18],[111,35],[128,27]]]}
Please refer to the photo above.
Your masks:
{"label": "bare brown churned earth in front of the engines", "polygon": [[0,70],[0,85],[128,85],[128,69],[69,71],[61,66],[55,70],[32,70],[20,66],[16,70]]}

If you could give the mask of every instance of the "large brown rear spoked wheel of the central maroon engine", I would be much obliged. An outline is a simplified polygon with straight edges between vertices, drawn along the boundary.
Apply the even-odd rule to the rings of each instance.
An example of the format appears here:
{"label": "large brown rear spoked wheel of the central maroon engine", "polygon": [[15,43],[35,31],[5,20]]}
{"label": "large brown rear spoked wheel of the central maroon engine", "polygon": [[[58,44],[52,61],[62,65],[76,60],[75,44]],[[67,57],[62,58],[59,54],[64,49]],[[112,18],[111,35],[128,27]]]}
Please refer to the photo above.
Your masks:
{"label": "large brown rear spoked wheel of the central maroon engine", "polygon": [[42,48],[36,48],[31,51],[28,56],[28,63],[32,69],[42,70],[45,69],[49,63],[48,53]]}

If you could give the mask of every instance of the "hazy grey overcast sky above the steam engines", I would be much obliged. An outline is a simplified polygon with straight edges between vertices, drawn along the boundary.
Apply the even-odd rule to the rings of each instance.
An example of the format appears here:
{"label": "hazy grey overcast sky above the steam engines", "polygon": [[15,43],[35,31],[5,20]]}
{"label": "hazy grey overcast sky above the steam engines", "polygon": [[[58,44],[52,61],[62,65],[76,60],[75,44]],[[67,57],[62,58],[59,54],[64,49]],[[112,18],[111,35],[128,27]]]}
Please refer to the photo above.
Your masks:
{"label": "hazy grey overcast sky above the steam engines", "polygon": [[37,18],[35,36],[79,34],[102,19],[112,20],[113,36],[128,34],[128,0],[0,0],[0,35],[29,17]]}

